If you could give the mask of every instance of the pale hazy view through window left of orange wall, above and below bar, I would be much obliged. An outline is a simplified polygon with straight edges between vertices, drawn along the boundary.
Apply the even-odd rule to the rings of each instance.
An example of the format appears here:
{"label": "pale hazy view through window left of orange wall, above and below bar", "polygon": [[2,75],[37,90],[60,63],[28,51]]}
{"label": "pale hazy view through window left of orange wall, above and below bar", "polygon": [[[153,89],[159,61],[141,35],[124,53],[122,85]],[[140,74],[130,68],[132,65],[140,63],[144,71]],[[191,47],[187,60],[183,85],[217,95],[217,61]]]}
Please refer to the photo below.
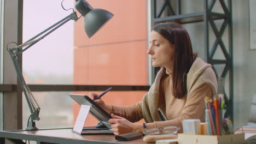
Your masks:
{"label": "pale hazy view through window left of orange wall, above and below bar", "polygon": [[[63,10],[61,2],[62,0],[24,1],[23,42],[72,13],[72,10]],[[74,1],[63,1],[63,7],[73,8]],[[73,20],[67,22],[22,53],[22,70],[27,84],[73,83],[73,23]],[[40,121],[36,121],[37,128],[72,127],[72,99],[68,95],[70,92],[32,93],[41,108]],[[25,129],[30,110],[24,95],[22,103],[22,125]]]}

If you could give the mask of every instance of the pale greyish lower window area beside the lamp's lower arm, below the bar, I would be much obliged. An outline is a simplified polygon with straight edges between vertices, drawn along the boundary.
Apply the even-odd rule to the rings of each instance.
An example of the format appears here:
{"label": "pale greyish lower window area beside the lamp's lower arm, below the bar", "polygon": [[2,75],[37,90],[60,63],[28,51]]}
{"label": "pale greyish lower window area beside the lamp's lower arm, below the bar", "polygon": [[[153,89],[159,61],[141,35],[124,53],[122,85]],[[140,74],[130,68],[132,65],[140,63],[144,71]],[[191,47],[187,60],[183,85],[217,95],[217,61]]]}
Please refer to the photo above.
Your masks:
{"label": "pale greyish lower window area beside the lamp's lower arm, below the bar", "polygon": [[[73,127],[73,107],[70,92],[33,92],[34,98],[40,106],[39,121],[36,127],[45,128],[71,128]],[[23,128],[27,128],[30,109],[25,96],[22,98]]]}

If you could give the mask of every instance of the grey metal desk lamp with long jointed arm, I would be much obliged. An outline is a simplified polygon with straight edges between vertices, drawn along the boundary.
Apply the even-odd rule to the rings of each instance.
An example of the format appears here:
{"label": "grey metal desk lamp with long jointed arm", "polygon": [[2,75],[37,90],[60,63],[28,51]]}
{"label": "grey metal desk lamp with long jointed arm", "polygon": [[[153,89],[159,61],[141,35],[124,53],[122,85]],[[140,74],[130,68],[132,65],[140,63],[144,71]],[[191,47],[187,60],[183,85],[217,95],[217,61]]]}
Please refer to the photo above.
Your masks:
{"label": "grey metal desk lamp with long jointed arm", "polygon": [[[22,71],[19,67],[17,56],[20,55],[22,52],[26,51],[28,48],[36,44],[38,41],[42,40],[44,37],[55,31],[57,28],[64,25],[69,20],[77,21],[81,16],[84,17],[84,29],[88,37],[92,37],[98,29],[100,29],[108,20],[110,20],[113,17],[113,14],[110,13],[107,10],[104,9],[94,9],[91,7],[91,5],[86,2],[85,0],[75,0],[77,3],[75,4],[75,8],[79,11],[81,14],[79,17],[77,16],[77,13],[73,9],[73,13],[65,17],[64,19],[60,20],[59,22],[56,22],[53,26],[50,26],[49,28],[45,29],[43,32],[37,34],[30,40],[26,41],[25,43],[18,45],[15,42],[11,42],[16,44],[17,46],[14,48],[8,48],[7,45],[7,51],[10,54],[11,60],[14,64],[15,71],[18,75],[18,79],[22,88],[22,91],[26,97],[26,101],[28,104],[28,107],[30,108],[31,115],[28,118],[28,125],[26,130],[38,130],[36,127],[35,120],[39,121],[39,111],[40,107],[34,99],[33,94],[30,91],[30,88],[26,85],[26,82],[24,80],[24,77],[22,76]],[[62,1],[63,3],[63,1]],[[63,5],[61,3],[61,6],[63,8]],[[63,8],[66,10],[65,8]],[[42,36],[40,36],[42,35]],[[40,37],[39,37],[40,36]],[[25,47],[24,49],[22,49]],[[30,119],[30,121],[29,121]]]}

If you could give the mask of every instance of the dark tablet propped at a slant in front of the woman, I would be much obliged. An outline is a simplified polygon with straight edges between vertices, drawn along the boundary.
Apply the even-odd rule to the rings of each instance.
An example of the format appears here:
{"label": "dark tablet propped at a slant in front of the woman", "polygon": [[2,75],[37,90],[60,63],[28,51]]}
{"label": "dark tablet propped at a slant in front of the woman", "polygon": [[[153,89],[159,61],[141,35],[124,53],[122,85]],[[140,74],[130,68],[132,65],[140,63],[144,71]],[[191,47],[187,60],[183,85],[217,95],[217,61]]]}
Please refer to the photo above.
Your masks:
{"label": "dark tablet propped at a slant in front of the woman", "polygon": [[90,113],[92,116],[98,119],[101,123],[106,125],[109,129],[111,129],[111,125],[108,123],[108,119],[111,118],[109,113],[101,108],[98,104],[96,104],[93,100],[91,100],[88,96],[83,94],[69,94],[72,99],[77,101],[80,105],[90,105]]}

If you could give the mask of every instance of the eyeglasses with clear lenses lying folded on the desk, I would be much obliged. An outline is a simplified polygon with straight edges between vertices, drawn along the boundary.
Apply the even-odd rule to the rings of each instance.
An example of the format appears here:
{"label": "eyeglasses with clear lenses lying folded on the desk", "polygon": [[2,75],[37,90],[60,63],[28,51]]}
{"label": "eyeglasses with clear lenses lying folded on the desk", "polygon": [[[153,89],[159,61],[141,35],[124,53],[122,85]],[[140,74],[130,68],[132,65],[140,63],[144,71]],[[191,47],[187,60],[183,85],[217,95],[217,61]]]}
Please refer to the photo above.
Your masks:
{"label": "eyeglasses with clear lenses lying folded on the desk", "polygon": [[178,130],[179,127],[168,126],[164,128],[144,129],[142,133],[144,135],[176,134]]}

